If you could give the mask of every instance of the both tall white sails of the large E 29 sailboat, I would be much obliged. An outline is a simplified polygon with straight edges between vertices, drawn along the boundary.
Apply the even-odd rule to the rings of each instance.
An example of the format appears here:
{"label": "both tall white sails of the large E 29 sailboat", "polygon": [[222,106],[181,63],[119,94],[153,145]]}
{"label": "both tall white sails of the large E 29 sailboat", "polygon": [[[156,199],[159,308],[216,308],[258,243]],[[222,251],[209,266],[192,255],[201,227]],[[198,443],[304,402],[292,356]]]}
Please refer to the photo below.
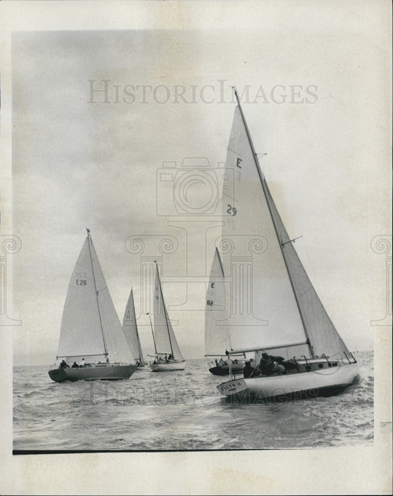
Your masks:
{"label": "both tall white sails of the large E 29 sailboat", "polygon": [[[285,231],[260,170],[236,91],[235,96],[238,106],[225,163],[225,169],[234,172],[235,187],[223,191],[225,227],[221,243],[231,244],[233,251],[242,239],[250,240],[247,245],[250,248],[253,237],[255,240],[263,237],[266,249],[261,255],[250,249],[248,252],[243,249],[242,254],[245,258],[251,257],[253,262],[251,275],[248,275],[252,280],[248,308],[252,307],[253,314],[265,319],[267,325],[247,325],[249,314],[242,315],[243,324],[237,323],[241,316],[237,308],[238,295],[249,283],[244,271],[236,272],[235,259],[228,251],[223,253],[223,265],[225,274],[231,278],[230,325],[235,325],[236,332],[241,333],[243,349],[277,345],[280,347],[277,353],[286,357],[322,353],[349,357]],[[238,260],[239,253],[236,255]],[[299,345],[285,348],[285,343]],[[240,346],[236,342],[233,348]]]}

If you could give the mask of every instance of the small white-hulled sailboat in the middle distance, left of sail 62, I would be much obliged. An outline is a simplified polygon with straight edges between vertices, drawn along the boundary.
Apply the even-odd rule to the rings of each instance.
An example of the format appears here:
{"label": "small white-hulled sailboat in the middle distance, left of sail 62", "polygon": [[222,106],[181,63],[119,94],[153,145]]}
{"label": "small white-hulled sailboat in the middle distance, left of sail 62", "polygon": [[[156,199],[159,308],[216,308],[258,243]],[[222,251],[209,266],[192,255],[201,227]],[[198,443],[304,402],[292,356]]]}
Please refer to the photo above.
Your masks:
{"label": "small white-hulled sailboat in the middle distance, left of sail 62", "polygon": [[165,306],[160,274],[156,264],[156,279],[154,283],[154,331],[152,320],[152,334],[154,341],[155,360],[150,363],[153,372],[182,371],[186,362],[183,359],[179,345],[174,335],[172,324]]}

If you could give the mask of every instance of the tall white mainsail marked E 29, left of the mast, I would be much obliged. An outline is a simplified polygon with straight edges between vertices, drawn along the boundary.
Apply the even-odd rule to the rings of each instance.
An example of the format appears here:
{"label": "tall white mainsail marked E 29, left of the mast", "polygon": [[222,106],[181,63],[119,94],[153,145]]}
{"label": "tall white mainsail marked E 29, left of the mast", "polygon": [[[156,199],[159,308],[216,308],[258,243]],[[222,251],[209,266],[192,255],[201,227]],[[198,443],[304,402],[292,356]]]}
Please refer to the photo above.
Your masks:
{"label": "tall white mainsail marked E 29, left of the mast", "polygon": [[[231,249],[220,249],[225,276],[231,282],[232,348],[304,342],[302,321],[239,107],[225,170],[235,181],[233,189],[223,190],[222,244]],[[306,346],[303,351],[307,352]]]}

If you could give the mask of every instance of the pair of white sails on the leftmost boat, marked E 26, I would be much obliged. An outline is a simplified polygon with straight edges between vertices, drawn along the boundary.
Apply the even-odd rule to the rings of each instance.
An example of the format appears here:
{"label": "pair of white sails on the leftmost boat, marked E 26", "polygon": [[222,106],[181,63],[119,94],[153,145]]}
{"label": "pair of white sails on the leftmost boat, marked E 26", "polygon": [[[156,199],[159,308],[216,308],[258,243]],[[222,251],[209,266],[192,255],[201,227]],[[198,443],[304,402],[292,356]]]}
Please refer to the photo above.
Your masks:
{"label": "pair of white sails on the leftmost boat, marked E 26", "polygon": [[89,231],[68,285],[57,356],[133,363]]}

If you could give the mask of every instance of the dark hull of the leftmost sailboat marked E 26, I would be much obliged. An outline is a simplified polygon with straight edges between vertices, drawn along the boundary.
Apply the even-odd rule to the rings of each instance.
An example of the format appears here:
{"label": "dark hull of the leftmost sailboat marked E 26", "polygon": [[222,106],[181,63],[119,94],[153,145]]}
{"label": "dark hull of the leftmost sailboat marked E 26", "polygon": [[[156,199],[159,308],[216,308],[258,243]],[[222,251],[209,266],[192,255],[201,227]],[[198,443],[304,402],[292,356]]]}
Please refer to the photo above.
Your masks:
{"label": "dark hull of the leftmost sailboat marked E 26", "polygon": [[97,367],[79,367],[54,369],[49,376],[55,382],[71,382],[77,380],[121,380],[128,379],[138,369],[137,365],[104,365]]}

